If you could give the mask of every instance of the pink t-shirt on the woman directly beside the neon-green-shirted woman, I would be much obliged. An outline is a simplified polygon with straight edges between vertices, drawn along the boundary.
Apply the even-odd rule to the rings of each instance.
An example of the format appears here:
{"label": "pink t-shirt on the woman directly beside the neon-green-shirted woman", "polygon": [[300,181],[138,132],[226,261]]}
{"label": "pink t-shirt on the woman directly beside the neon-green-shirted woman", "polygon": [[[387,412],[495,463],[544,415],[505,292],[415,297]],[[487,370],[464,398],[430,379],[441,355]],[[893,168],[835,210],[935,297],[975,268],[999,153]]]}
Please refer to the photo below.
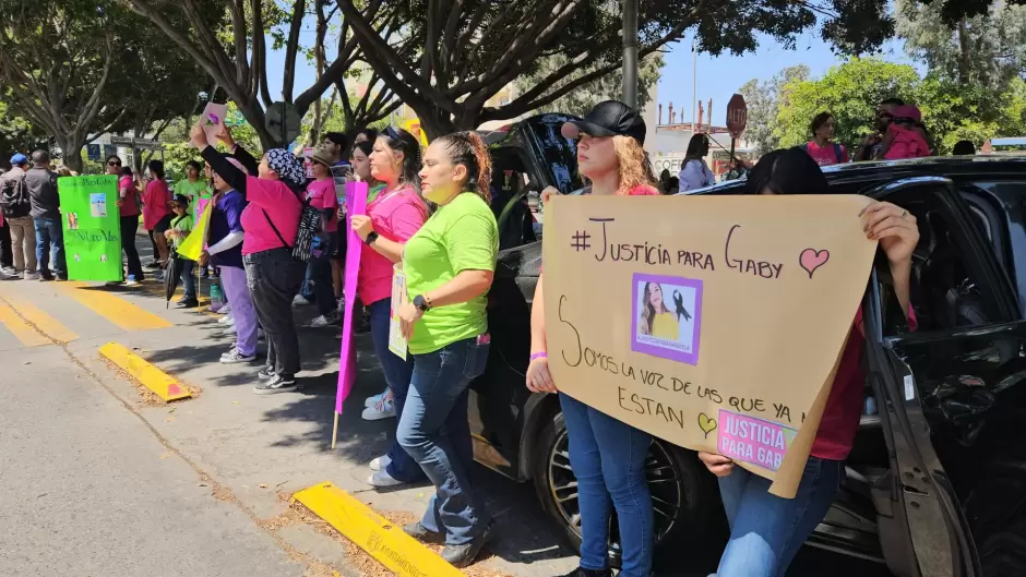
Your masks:
{"label": "pink t-shirt on the woman directly beside the neon-green-shirted woman", "polygon": [[[403,187],[391,192],[382,191],[367,206],[367,214],[379,236],[405,243],[428,219],[428,207],[417,191]],[[370,304],[391,298],[392,269],[395,263],[366,243],[361,250],[360,272],[356,277],[356,291],[360,301]]]}

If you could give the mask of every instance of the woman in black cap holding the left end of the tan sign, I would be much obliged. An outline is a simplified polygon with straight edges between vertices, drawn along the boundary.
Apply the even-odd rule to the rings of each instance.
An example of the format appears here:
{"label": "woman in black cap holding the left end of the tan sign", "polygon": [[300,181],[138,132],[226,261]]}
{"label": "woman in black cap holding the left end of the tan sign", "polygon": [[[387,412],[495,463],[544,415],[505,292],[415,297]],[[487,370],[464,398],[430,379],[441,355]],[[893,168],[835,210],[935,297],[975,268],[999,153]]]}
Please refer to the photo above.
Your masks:
{"label": "woman in black cap holding the left end of the tan sign", "polygon": [[[583,121],[563,124],[563,135],[577,139],[577,166],[592,182],[590,194],[657,195],[645,170],[645,121],[634,109],[609,100],[600,103]],[[658,298],[653,291],[658,288]],[[527,388],[557,393],[549,375],[545,338],[545,306],[541,277],[530,311],[530,364]],[[647,334],[664,334],[673,313],[663,303],[661,287],[646,288],[651,317]],[[669,316],[660,316],[669,315]],[[676,326],[676,321],[673,321]],[[675,335],[676,338],[676,335]],[[581,505],[581,566],[565,577],[611,577],[606,546],[609,539],[609,505],[612,496],[620,524],[621,577],[648,577],[654,542],[652,495],[645,481],[645,456],[652,436],[560,393],[560,405],[570,436],[570,465],[577,477]]]}

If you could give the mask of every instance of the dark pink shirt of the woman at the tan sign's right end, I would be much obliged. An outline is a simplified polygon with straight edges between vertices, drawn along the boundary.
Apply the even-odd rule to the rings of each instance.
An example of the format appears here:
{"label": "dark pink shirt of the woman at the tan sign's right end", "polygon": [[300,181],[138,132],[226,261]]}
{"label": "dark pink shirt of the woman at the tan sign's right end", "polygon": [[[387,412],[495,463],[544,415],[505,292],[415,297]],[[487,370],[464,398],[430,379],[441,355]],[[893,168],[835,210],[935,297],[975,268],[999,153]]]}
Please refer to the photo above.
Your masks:
{"label": "dark pink shirt of the woman at the tan sign's right end", "polygon": [[[916,329],[916,314],[908,308],[908,327]],[[831,387],[826,407],[820,419],[820,429],[812,442],[811,455],[821,459],[845,460],[855,444],[855,433],[859,430],[862,417],[862,390],[866,388],[866,373],[860,359],[866,348],[862,329],[862,308],[855,315],[848,345],[837,365],[834,386]]]}

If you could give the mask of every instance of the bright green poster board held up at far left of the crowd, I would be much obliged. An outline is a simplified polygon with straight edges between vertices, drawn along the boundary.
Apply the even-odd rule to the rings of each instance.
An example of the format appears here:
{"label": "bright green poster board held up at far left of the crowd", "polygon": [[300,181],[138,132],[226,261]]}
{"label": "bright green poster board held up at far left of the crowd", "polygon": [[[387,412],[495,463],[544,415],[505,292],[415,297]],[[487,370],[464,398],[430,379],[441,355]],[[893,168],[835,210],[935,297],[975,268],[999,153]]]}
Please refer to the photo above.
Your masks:
{"label": "bright green poster board held up at far left of the crowd", "polygon": [[118,177],[63,177],[60,194],[64,255],[71,280],[123,280]]}

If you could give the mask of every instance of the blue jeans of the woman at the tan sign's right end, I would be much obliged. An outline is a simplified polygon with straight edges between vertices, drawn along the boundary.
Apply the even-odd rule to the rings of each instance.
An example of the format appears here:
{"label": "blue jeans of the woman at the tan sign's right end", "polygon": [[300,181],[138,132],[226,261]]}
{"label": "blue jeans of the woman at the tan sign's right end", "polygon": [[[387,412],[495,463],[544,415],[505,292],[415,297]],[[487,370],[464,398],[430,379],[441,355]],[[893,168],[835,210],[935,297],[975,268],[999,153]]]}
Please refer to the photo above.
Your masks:
{"label": "blue jeans of the woman at the tan sign's right end", "polygon": [[826,516],[844,476],[839,460],[809,457],[795,498],[770,494],[770,480],[735,467],[719,478],[730,540],[711,577],[784,577]]}

